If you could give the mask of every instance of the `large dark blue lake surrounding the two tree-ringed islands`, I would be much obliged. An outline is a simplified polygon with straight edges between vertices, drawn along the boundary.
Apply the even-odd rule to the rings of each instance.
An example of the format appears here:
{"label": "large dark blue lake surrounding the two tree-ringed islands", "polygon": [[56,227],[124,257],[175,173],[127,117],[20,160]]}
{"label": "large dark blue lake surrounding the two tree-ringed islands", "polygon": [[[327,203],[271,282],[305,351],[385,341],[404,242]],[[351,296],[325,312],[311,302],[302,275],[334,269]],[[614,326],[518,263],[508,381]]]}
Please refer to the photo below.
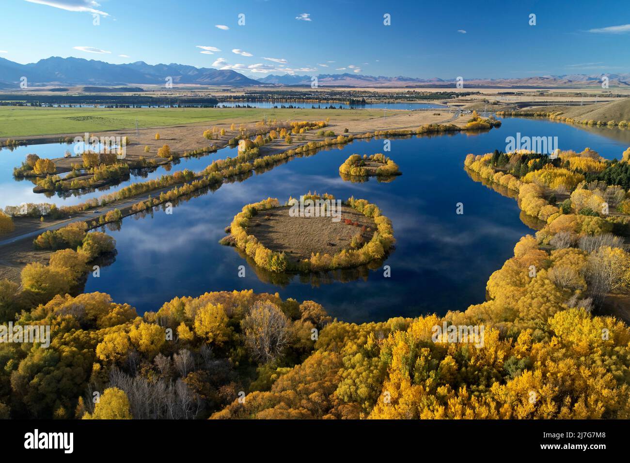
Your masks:
{"label": "large dark blue lake surrounding the two tree-ringed islands", "polygon": [[[356,141],[223,185],[181,202],[172,215],[157,210],[124,219],[120,230],[108,231],[117,241],[115,262],[101,268],[100,278],[90,275],[85,291],[111,294],[140,314],[159,309],[175,296],[235,289],[312,299],[332,316],[357,323],[466,309],[483,302],[490,274],[512,256],[518,239],[533,230],[519,219],[515,200],[471,180],[463,169],[464,157],[505,149],[505,137],[517,132],[558,136],[562,149],[581,151],[588,146],[609,158],[621,157],[629,146],[627,132],[619,129],[583,130],[547,120],[507,118],[500,129],[480,134],[392,139],[391,152],[385,154],[403,175],[391,183],[350,183],[338,173],[350,154],[383,151],[383,140]],[[225,154],[220,151],[219,156]],[[391,267],[391,277],[384,277],[382,266],[328,278],[270,277],[236,249],[218,243],[243,205],[269,196],[284,202],[308,190],[342,199],[354,195],[381,208],[392,220],[397,240],[384,262]],[[464,204],[463,215],[455,214],[458,202]],[[238,277],[240,265],[246,267],[244,278]]]}

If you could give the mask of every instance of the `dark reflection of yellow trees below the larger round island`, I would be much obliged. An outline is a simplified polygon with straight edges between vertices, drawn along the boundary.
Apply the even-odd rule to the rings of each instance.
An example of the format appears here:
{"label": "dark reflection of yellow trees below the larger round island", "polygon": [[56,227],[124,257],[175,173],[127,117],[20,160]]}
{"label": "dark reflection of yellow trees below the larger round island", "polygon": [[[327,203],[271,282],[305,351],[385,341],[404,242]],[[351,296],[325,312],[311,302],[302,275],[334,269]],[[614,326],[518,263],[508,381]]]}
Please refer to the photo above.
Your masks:
{"label": "dark reflection of yellow trees below the larger round island", "polygon": [[[241,249],[232,246],[241,258],[243,258],[249,265],[249,268],[256,273],[256,277],[263,283],[280,286],[285,288],[289,285],[295,277],[298,278],[300,283],[310,284],[311,287],[318,288],[321,285],[329,285],[334,282],[348,283],[355,280],[367,281],[370,270],[379,270],[382,267],[386,259],[377,261],[370,261],[367,265],[362,265],[355,268],[340,268],[337,270],[329,270],[328,272],[308,272],[308,273],[277,273],[270,272],[265,268],[256,265],[255,261],[249,257]],[[392,251],[393,252],[393,251]]]}

